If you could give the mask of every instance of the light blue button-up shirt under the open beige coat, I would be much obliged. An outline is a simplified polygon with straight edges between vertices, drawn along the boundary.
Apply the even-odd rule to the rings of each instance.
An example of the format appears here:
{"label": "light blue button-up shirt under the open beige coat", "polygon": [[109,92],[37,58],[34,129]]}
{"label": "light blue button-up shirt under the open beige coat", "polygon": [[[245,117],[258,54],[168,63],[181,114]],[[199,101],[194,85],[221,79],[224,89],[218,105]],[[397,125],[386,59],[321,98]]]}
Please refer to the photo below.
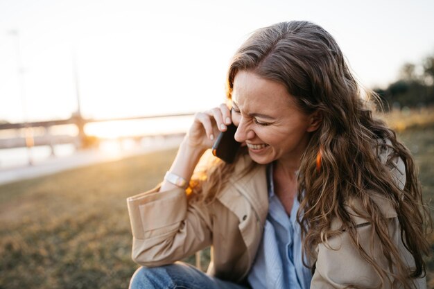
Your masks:
{"label": "light blue button-up shirt under the open beige coat", "polygon": [[267,170],[270,207],[248,281],[253,289],[309,289],[312,274],[302,262],[302,238],[297,222],[300,203],[295,198],[288,216],[275,195],[272,168],[270,164]]}

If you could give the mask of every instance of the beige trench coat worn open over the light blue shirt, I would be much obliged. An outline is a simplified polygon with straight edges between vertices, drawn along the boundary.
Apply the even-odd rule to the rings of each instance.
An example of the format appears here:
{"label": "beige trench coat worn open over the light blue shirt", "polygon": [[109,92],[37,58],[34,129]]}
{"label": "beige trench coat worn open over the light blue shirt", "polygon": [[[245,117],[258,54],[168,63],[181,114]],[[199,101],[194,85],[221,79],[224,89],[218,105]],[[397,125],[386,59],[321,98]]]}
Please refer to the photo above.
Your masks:
{"label": "beige trench coat worn open over the light blue shirt", "polygon": [[[388,152],[381,155],[387,159]],[[236,164],[234,176],[250,163],[248,156]],[[397,159],[392,173],[405,183],[403,161]],[[225,190],[212,204],[189,204],[182,189],[159,192],[159,188],[128,198],[132,228],[132,259],[139,265],[154,267],[184,259],[211,245],[208,274],[230,281],[244,279],[254,261],[268,213],[266,167],[257,166],[241,179],[232,177]],[[397,213],[386,200],[376,198],[389,219],[392,240],[399,245],[411,268],[413,256],[403,247]],[[354,216],[356,224],[366,221]],[[332,227],[339,227],[338,220]],[[370,225],[358,228],[361,243],[369,248]],[[330,247],[317,248],[315,273],[311,288],[345,288],[353,283],[361,288],[379,285],[379,278],[369,263],[359,256],[349,236],[342,232],[329,240]],[[385,263],[376,247],[377,259]],[[314,261],[314,262],[315,262]],[[426,288],[418,279],[418,288]]]}

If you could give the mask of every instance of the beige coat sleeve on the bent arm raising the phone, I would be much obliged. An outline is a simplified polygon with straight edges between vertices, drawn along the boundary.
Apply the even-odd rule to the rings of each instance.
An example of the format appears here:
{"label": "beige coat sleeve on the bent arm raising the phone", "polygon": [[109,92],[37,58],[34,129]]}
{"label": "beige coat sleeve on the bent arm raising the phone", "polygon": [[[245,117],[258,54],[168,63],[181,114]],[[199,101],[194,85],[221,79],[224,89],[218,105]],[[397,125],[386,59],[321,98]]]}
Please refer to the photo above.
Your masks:
{"label": "beige coat sleeve on the bent arm raising the phone", "polygon": [[189,204],[183,189],[158,189],[127,199],[132,260],[149,267],[173,263],[211,244],[206,205]]}

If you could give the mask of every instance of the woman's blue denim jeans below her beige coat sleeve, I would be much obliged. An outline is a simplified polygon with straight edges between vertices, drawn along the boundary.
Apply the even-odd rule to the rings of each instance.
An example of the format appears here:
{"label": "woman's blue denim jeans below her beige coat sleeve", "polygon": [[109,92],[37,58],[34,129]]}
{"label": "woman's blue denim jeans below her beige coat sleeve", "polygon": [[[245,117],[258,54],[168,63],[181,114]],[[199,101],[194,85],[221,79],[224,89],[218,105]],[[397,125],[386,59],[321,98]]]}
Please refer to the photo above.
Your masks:
{"label": "woman's blue denim jeans below her beige coat sleeve", "polygon": [[249,287],[211,277],[192,265],[177,262],[134,272],[130,289],[248,289]]}

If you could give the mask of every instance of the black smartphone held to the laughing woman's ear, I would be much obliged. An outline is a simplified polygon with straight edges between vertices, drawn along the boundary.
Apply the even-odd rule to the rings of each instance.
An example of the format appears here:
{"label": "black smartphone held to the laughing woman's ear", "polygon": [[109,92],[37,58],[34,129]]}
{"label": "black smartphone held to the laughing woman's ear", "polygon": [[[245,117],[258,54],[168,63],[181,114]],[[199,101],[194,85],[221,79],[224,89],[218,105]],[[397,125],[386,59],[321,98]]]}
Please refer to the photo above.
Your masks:
{"label": "black smartphone held to the laughing woman's ear", "polygon": [[216,142],[212,146],[212,154],[229,164],[234,161],[236,152],[241,146],[241,143],[238,143],[234,138],[235,132],[236,126],[234,123],[227,125],[227,130],[218,134]]}

